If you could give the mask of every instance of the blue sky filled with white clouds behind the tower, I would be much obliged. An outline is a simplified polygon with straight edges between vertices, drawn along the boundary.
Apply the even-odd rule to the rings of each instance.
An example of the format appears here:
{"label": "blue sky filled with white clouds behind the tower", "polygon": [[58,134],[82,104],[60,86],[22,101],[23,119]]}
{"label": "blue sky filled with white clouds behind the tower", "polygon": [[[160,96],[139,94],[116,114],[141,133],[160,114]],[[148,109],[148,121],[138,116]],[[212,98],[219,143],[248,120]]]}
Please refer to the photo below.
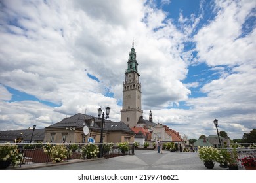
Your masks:
{"label": "blue sky filled with white clouds behind the tower", "polygon": [[0,1],[0,130],[109,106],[134,39],[142,110],[188,139],[256,128],[256,1]]}

